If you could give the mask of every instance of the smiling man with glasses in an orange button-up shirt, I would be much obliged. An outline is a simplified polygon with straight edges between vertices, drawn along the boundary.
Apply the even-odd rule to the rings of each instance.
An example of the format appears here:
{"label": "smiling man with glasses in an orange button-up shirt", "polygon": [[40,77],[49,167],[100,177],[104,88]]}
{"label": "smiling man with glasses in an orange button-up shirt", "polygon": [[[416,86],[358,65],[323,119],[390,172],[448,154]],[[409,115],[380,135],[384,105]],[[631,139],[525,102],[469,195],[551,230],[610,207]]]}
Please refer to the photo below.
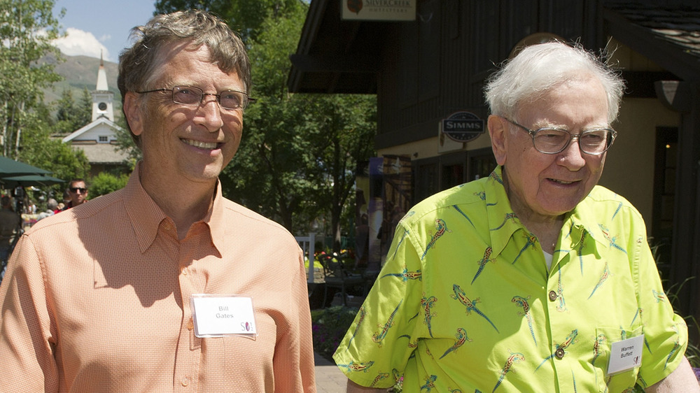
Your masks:
{"label": "smiling man with glasses in an orange button-up shirt", "polygon": [[120,55],[143,152],[129,183],[38,222],[0,286],[0,390],[314,392],[302,252],[225,199],[251,86],[201,11],[154,17]]}

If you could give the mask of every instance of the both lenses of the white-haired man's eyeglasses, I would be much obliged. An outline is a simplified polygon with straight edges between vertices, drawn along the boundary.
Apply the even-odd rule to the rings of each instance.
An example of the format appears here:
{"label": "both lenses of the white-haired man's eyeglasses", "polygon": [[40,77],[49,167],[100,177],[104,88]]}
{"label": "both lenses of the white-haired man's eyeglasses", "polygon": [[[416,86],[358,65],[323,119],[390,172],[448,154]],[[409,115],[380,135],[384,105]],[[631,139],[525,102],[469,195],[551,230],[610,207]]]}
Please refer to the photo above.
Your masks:
{"label": "both lenses of the white-haired man's eyeglasses", "polygon": [[612,132],[608,129],[592,129],[579,135],[571,135],[561,129],[538,129],[535,131],[535,148],[540,152],[561,152],[572,138],[577,138],[583,152],[599,154],[608,150],[612,143]]}

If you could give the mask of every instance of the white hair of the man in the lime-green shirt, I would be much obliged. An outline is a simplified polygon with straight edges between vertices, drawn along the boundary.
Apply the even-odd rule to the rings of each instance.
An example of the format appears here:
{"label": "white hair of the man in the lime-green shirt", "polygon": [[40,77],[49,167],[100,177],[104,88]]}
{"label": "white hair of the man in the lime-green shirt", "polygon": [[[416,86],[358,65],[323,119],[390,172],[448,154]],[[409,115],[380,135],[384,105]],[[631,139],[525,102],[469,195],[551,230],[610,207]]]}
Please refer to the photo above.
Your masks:
{"label": "white hair of the man in the lime-green shirt", "polygon": [[608,123],[614,122],[624,80],[603,59],[579,44],[549,42],[524,48],[489,77],[484,95],[493,115],[514,120],[520,103],[537,99],[553,87],[582,76],[600,80],[608,98]]}

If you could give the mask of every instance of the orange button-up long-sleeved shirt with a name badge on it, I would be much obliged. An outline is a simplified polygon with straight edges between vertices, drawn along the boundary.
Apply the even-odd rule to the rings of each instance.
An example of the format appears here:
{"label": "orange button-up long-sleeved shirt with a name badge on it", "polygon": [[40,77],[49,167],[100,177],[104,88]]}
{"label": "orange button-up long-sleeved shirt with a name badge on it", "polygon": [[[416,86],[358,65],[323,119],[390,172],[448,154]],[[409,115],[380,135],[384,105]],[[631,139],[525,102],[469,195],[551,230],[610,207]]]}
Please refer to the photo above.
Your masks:
{"label": "orange button-up long-sleeved shirt with a name badge on it", "polygon": [[[27,231],[0,286],[0,391],[315,392],[302,252],[217,190],[181,241],[138,170]],[[258,336],[197,338],[191,294],[250,296]]]}

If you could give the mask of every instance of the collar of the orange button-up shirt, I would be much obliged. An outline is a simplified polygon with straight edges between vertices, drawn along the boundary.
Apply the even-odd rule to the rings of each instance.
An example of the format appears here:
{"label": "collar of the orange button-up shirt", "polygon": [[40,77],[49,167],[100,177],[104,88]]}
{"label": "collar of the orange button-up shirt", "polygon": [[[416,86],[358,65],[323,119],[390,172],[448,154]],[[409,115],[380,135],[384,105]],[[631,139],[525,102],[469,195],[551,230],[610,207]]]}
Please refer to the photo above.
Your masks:
{"label": "collar of the orange button-up shirt", "polygon": [[[158,228],[163,220],[168,219],[167,215],[158,206],[153,199],[146,193],[144,187],[141,186],[141,178],[139,177],[139,166],[132,172],[129,181],[124,187],[124,206],[131,221],[134,232],[139,242],[139,250],[145,252],[155,241],[158,236]],[[214,203],[207,215],[204,216],[201,222],[209,228],[211,242],[214,247],[221,252],[223,249],[224,234],[224,210],[223,196],[221,195],[221,183],[217,180],[216,192],[214,193]]]}

